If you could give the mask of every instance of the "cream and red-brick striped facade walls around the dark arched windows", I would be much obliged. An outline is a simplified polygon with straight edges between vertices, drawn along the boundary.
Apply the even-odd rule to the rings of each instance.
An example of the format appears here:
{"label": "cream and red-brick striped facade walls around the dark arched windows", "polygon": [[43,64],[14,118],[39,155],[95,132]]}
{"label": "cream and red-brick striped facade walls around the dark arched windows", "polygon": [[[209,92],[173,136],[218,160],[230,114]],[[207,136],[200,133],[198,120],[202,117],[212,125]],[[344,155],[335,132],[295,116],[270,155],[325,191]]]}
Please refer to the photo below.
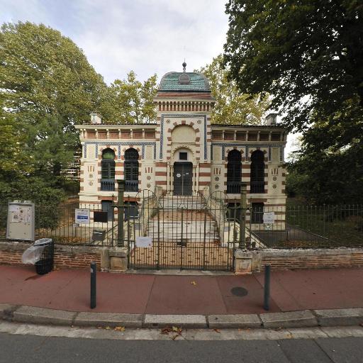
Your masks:
{"label": "cream and red-brick striped facade walls around the dark arched windows", "polygon": [[[173,72],[171,72],[173,73]],[[177,73],[179,77],[179,74]],[[101,123],[77,125],[82,143],[81,191],[84,204],[117,201],[117,191],[101,190],[102,152],[108,148],[115,153],[115,179],[125,177],[125,152],[133,148],[139,155],[138,189],[155,189],[173,195],[176,181],[174,168],[181,162],[191,164],[191,194],[220,191],[225,201],[238,203],[239,194],[227,194],[228,153],[238,150],[241,155],[242,178],[247,183],[247,203],[264,206],[285,206],[284,147],[287,132],[279,125],[211,125],[211,111],[215,100],[211,96],[208,80],[201,87],[199,77],[196,89],[182,89],[160,83],[154,99],[157,111],[155,124],[103,125]],[[177,77],[176,76],[176,77]],[[205,77],[204,77],[205,78]],[[202,79],[202,80],[201,80]],[[192,84],[192,82],[191,82]],[[174,88],[173,88],[174,87]],[[251,193],[251,156],[256,150],[264,155],[264,191]],[[181,154],[186,159],[181,161]],[[117,189],[117,188],[116,188]],[[138,198],[138,192],[126,191],[129,200]],[[281,214],[282,213],[282,214]],[[279,222],[284,220],[284,211]],[[247,219],[249,216],[247,216]]]}

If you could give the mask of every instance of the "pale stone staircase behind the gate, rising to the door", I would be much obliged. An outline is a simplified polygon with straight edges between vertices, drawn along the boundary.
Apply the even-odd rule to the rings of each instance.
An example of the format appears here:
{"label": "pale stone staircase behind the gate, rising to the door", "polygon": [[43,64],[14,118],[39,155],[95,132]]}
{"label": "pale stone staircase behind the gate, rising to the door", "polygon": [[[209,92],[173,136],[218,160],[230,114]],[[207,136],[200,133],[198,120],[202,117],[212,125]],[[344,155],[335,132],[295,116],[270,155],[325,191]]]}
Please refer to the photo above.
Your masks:
{"label": "pale stone staircase behind the gate, rising to the door", "polygon": [[216,222],[208,214],[206,203],[200,196],[164,196],[159,207],[159,215],[147,225],[147,235],[152,240],[184,246],[204,241],[219,242]]}

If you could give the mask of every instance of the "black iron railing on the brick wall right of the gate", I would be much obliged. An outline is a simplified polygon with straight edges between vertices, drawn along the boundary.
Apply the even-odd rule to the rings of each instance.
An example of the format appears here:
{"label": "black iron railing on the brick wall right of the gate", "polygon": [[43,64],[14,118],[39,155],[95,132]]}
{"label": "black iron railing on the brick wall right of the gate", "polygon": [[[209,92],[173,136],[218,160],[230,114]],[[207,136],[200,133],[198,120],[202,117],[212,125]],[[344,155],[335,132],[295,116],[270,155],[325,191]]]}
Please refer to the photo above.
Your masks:
{"label": "black iron railing on the brick wall right of the gate", "polygon": [[[240,207],[230,206],[239,218]],[[247,233],[262,247],[318,248],[363,246],[363,205],[247,206]]]}

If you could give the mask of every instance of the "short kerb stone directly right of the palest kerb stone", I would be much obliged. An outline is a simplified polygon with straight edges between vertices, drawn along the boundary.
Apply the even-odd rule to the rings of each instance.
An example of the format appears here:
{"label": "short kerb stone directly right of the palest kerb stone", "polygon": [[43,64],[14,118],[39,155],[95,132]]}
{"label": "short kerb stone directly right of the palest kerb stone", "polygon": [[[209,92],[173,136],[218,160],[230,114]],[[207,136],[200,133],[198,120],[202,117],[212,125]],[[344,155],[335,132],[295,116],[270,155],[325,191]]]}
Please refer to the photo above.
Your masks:
{"label": "short kerb stone directly right of the palest kerb stone", "polygon": [[208,315],[209,328],[261,328],[257,314]]}

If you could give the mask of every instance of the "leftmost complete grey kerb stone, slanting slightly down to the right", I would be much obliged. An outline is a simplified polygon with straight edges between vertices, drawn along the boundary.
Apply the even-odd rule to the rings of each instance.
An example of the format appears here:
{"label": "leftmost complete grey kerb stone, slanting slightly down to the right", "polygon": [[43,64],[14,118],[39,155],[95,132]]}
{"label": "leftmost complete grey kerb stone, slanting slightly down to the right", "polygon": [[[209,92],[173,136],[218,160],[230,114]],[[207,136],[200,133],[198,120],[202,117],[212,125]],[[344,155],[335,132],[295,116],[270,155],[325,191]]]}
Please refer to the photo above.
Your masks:
{"label": "leftmost complete grey kerb stone, slanting slightly down to the right", "polygon": [[13,312],[13,321],[19,323],[72,325],[74,312],[21,306]]}

